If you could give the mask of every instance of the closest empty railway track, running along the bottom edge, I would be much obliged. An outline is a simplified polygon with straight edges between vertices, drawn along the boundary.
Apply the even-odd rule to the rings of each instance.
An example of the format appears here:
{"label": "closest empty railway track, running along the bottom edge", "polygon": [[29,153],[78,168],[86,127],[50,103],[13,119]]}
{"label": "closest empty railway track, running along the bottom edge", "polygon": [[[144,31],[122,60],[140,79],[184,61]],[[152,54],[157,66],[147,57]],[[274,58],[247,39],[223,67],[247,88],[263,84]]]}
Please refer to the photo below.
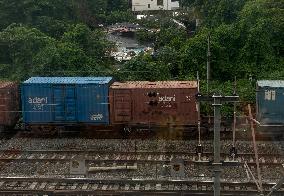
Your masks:
{"label": "closest empty railway track, running along the bottom edge", "polygon": [[[263,183],[268,193],[274,183]],[[171,181],[171,180],[95,180],[92,178],[0,178],[1,194],[100,194],[100,195],[210,195],[213,194],[212,181]],[[222,182],[222,195],[256,195],[257,187],[251,182]],[[284,186],[275,195],[283,195]]]}

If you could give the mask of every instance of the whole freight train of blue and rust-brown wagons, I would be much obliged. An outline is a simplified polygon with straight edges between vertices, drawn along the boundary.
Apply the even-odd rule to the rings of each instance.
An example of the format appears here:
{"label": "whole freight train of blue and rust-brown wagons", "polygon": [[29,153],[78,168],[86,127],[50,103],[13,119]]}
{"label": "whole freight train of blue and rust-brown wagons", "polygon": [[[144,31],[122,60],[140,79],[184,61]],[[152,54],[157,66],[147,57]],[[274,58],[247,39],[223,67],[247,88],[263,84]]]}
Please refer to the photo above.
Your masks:
{"label": "whole freight train of blue and rust-brown wagons", "polygon": [[[25,129],[72,127],[183,127],[196,130],[197,81],[127,81],[111,77],[32,77],[0,85],[0,125],[22,116]],[[21,109],[19,109],[21,103]],[[257,120],[263,130],[283,133],[284,81],[258,81]],[[19,112],[21,111],[21,115]]]}

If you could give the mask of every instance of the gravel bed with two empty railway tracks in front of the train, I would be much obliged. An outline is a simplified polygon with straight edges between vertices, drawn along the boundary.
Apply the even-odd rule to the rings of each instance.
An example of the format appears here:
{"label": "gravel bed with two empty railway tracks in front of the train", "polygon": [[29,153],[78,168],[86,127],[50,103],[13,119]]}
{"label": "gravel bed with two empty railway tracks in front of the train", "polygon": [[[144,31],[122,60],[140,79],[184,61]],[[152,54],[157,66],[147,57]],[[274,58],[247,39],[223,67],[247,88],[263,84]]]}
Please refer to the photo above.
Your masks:
{"label": "gravel bed with two empty railway tracks in front of the train", "polygon": [[[27,138],[0,140],[2,194],[213,194],[213,143],[196,140]],[[229,155],[232,141],[221,141],[221,193],[258,195],[257,167],[251,141],[236,141],[237,156]],[[258,141],[264,193],[284,173],[283,141]],[[84,172],[71,172],[73,161],[84,162]],[[173,174],[173,160],[182,169]],[[180,175],[181,174],[181,175]],[[252,176],[253,175],[253,176]],[[284,187],[274,193],[283,195]]]}

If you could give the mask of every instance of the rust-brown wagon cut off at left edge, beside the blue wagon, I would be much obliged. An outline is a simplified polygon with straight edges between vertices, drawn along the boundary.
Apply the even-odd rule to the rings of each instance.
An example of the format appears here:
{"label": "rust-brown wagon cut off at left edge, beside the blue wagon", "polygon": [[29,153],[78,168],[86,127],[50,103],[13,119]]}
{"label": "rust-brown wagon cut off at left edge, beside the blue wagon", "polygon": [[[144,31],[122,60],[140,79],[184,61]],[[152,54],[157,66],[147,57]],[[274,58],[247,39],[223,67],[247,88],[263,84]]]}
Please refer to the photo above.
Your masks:
{"label": "rust-brown wagon cut off at left edge, beside the blue wagon", "polygon": [[18,85],[0,82],[0,131],[13,127],[18,120]]}

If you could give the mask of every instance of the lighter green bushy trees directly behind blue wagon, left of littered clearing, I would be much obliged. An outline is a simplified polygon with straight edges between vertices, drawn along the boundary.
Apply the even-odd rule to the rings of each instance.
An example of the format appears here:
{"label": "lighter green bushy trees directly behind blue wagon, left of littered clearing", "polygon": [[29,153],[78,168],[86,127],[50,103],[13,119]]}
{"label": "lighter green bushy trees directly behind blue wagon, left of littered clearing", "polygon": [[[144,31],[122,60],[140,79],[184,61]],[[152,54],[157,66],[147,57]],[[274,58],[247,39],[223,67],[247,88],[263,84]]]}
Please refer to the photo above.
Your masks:
{"label": "lighter green bushy trees directly behind blue wagon, left of littered clearing", "polygon": [[38,29],[11,25],[0,33],[1,76],[24,80],[35,75],[99,75],[111,70],[107,61],[102,60],[106,58],[107,44],[101,44],[102,36],[93,33],[78,25],[64,34],[62,40],[56,40]]}

